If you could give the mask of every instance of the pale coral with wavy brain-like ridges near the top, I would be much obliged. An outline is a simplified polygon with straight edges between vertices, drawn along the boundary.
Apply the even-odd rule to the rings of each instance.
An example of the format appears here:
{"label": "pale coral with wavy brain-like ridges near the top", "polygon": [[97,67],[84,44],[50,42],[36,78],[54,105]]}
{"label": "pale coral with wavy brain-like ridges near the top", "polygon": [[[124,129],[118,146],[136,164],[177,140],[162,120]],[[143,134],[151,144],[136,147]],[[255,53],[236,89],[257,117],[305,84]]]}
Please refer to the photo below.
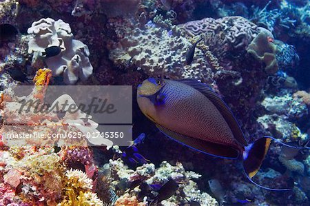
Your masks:
{"label": "pale coral with wavy brain-like ridges near the top", "polygon": [[240,56],[240,51],[245,50],[260,31],[265,31],[242,17],[205,18],[189,21],[178,28],[190,37],[202,34],[205,44],[221,61],[229,58],[227,55]]}

